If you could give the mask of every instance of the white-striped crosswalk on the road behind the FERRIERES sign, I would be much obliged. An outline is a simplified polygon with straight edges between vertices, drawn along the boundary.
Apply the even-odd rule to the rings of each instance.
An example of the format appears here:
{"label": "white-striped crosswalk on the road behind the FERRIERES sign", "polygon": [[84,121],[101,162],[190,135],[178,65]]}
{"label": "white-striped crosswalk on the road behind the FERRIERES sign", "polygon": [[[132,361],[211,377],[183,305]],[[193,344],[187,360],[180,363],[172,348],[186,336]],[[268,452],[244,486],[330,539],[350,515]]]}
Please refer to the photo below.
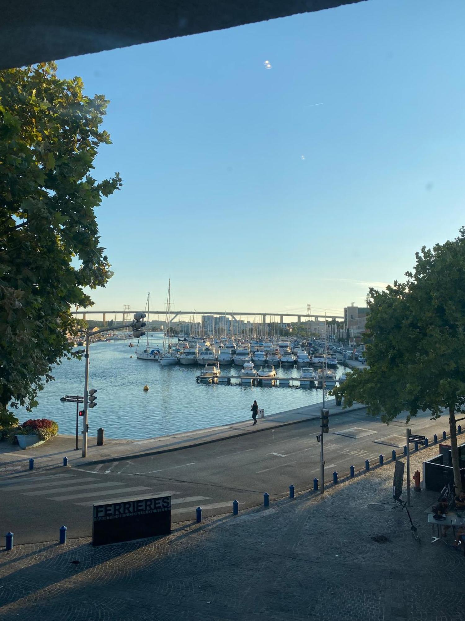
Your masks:
{"label": "white-striped crosswalk on the road behind the FERRIERES sign", "polygon": [[203,510],[226,509],[232,507],[231,501],[214,501],[208,496],[182,496],[172,489],[154,489],[146,486],[131,486],[118,481],[102,482],[101,479],[86,476],[86,473],[44,474],[15,473],[0,479],[0,494],[7,499],[8,494],[22,494],[30,501],[47,499],[53,502],[70,502],[81,507],[91,507],[94,502],[120,502],[130,496],[171,496],[171,514],[184,516],[192,513],[200,505]]}

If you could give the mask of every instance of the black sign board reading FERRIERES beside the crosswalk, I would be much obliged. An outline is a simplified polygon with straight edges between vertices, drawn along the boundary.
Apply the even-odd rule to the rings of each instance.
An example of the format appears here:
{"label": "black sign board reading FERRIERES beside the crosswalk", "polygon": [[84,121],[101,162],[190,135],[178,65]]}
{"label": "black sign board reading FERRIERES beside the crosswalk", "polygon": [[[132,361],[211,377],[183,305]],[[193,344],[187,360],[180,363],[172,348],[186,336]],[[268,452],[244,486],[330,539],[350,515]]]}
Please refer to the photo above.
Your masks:
{"label": "black sign board reading FERRIERES beside the crosswalk", "polygon": [[171,496],[94,502],[92,545],[169,535]]}

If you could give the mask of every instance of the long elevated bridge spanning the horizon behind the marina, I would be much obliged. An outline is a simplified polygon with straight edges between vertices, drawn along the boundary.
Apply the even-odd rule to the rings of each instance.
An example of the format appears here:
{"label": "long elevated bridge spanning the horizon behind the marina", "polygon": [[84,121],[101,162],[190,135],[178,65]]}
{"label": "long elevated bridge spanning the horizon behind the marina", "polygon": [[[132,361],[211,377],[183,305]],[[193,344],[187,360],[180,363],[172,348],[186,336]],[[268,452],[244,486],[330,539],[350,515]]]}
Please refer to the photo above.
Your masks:
{"label": "long elevated bridge spanning the horizon behind the marina", "polygon": [[[121,315],[122,317],[122,322],[124,323],[125,321],[130,321],[132,320],[132,315],[135,312],[146,312],[146,311],[128,311],[127,309],[124,311],[87,311],[86,309],[83,309],[82,311],[72,311],[73,315],[82,315],[82,319],[87,319],[87,315],[101,315],[104,325],[106,325],[107,323],[107,315],[112,315],[115,318],[117,317],[117,315]],[[150,311],[150,316],[153,317],[154,315],[162,315],[163,317],[166,316],[166,310],[164,311]],[[267,317],[269,317],[269,321],[273,321],[272,317],[279,317],[280,318],[280,324],[284,323],[284,319],[288,319],[290,317],[293,317],[294,321],[296,321],[298,324],[301,323],[302,318],[304,319],[304,321],[321,321],[323,319],[323,315],[319,314],[304,314],[304,313],[299,313],[299,314],[294,314],[294,313],[289,313],[289,312],[283,312],[283,311],[279,311],[279,312],[257,312],[257,311],[171,311],[169,313],[169,320],[170,322],[174,321],[177,317],[181,317],[182,315],[188,315],[190,317],[193,317],[194,315],[201,316],[201,315],[217,315],[217,316],[225,316],[225,317],[232,317],[232,319],[237,321],[237,317],[261,317],[261,323],[262,324],[266,324],[267,323]],[[343,320],[343,317],[340,317],[340,315],[327,315],[326,319],[328,321],[332,321],[333,319],[335,320]],[[178,319],[179,321],[180,319]]]}

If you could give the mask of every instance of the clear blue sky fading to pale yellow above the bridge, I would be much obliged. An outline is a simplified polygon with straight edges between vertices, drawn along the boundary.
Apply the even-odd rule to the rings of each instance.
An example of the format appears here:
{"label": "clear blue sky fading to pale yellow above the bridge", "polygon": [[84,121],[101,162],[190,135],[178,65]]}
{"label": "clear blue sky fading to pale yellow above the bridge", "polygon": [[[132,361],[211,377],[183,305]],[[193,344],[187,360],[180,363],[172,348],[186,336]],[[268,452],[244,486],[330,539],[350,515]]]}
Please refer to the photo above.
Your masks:
{"label": "clear blue sky fading to pale yellow above the bridge", "polygon": [[[342,312],[465,224],[465,3],[370,0],[58,61],[110,100],[94,309]],[[268,68],[265,61],[271,66]]]}

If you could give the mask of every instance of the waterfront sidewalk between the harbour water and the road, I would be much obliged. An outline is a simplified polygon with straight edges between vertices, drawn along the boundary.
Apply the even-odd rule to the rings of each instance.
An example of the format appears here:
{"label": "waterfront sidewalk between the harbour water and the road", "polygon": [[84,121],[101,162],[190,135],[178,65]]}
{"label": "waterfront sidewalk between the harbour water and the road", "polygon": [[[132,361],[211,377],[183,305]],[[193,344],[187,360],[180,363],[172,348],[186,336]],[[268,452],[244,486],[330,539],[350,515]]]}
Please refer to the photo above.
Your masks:
{"label": "waterfront sidewalk between the harbour water and the road", "polygon": [[[353,412],[363,409],[366,406],[355,404],[346,410],[342,406],[336,406],[334,399],[329,399],[326,403],[330,415]],[[257,419],[257,425],[252,427],[250,420],[221,425],[219,427],[207,427],[196,429],[189,432],[174,433],[163,435],[148,440],[105,440],[104,446],[97,446],[97,438],[90,437],[87,442],[87,456],[82,457],[82,448],[76,448],[76,436],[58,435],[51,438],[45,444],[36,448],[22,450],[17,445],[8,442],[0,443],[0,474],[14,469],[24,469],[25,463],[30,458],[34,459],[34,468],[53,468],[63,464],[63,457],[68,457],[68,465],[73,463],[79,466],[90,463],[105,463],[106,461],[125,460],[141,455],[156,455],[157,453],[167,453],[177,451],[191,446],[200,446],[210,442],[219,442],[227,438],[235,438],[249,433],[259,433],[268,429],[293,425],[305,420],[319,418],[321,404],[298,407],[293,410],[286,410],[278,414],[270,414],[264,419]],[[79,447],[81,447],[82,436],[79,434]]]}

